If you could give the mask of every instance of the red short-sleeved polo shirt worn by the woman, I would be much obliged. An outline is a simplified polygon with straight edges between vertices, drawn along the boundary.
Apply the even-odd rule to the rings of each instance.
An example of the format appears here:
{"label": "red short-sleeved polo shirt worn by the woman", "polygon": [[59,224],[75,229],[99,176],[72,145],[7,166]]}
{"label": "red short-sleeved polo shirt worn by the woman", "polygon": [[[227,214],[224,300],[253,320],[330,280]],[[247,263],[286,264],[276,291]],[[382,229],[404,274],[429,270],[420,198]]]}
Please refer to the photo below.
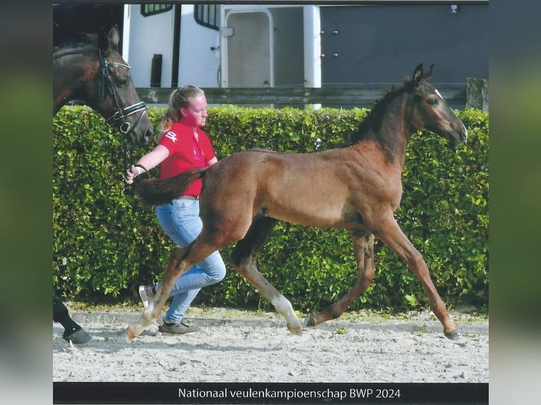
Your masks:
{"label": "red short-sleeved polo shirt worn by the woman", "polygon": [[[197,128],[196,131],[198,140],[193,127],[175,122],[163,134],[158,145],[167,147],[169,156],[160,165],[160,179],[176,176],[194,167],[207,167],[207,162],[215,157],[208,135],[201,128]],[[198,197],[202,186],[201,179],[198,179],[191,183],[183,194]]]}

